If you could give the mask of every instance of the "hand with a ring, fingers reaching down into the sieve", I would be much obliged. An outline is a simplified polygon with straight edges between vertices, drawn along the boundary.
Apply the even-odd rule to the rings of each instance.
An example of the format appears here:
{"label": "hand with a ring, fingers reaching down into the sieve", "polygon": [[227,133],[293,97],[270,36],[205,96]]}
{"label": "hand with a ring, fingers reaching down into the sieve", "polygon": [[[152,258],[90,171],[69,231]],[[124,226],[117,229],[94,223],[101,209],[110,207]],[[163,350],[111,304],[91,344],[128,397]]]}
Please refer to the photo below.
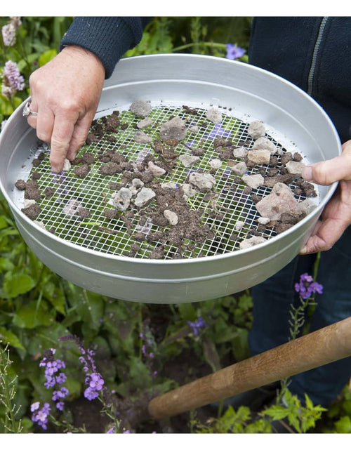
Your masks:
{"label": "hand with a ring, fingers reaching down into the sieve", "polygon": [[29,77],[28,124],[51,145],[53,171],[62,171],[65,158],[74,159],[84,145],[105,80],[102,62],[79,46],[67,46]]}

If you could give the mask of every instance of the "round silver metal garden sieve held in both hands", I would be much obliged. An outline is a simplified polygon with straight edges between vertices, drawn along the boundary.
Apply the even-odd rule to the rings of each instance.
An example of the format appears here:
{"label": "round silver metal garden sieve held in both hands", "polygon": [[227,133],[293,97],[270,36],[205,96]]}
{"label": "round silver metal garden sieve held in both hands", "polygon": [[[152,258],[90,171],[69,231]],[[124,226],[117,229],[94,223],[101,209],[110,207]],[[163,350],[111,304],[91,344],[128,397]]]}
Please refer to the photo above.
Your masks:
{"label": "round silver metal garden sieve held in both hands", "polygon": [[[188,154],[191,145],[201,144],[204,149],[201,164],[204,165],[218,157],[213,147],[213,140],[218,136],[232,139],[237,146],[240,143],[247,145],[251,121],[263,122],[266,135],[277,147],[284,152],[299,152],[307,163],[340,154],[336,130],[317,102],[288,81],[242,62],[182,54],[125,58],[118,63],[112,77],[105,81],[95,119],[109,116],[116,110],[120,117],[124,113],[128,117],[135,100],[152,106],[152,119],[157,124],[162,124],[174,113],[190,123],[191,110],[197,111],[197,124],[201,124],[206,120],[208,110],[220,111],[220,124],[213,125],[210,131],[197,127],[191,137],[188,134],[177,146],[180,154]],[[280,234],[267,231],[265,241],[241,249],[238,241],[230,238],[236,231],[235,224],[244,224],[239,231],[244,234],[257,225],[259,214],[242,186],[233,192],[234,173],[224,165],[221,172],[216,173],[217,197],[208,201],[201,194],[189,199],[195,210],[214,210],[211,212],[215,218],[210,220],[213,214],[208,214],[202,224],[211,229],[211,239],[201,245],[185,242],[181,256],[175,253],[173,246],[164,246],[161,259],[150,258],[150,252],[158,244],[146,242],[137,255],[131,256],[131,229],[146,234],[157,232],[151,216],[145,219],[144,214],[143,223],[140,216],[133,218],[126,227],[120,217],[105,226],[100,216],[82,219],[77,215],[62,214],[62,209],[67,208],[72,199],[84,199],[84,206],[94,211],[99,209],[102,201],[106,203],[107,195],[110,195],[107,181],[96,173],[95,178],[91,177],[93,181],[85,178],[76,186],[79,192],[71,190],[72,177],[65,184],[65,175],[57,175],[60,202],[53,199],[56,204],[52,202],[51,208],[43,210],[38,221],[30,220],[22,213],[23,192],[15,188],[15,182],[29,178],[32,161],[42,151],[35,131],[22,117],[24,105],[25,102],[11,115],[0,135],[0,185],[18,230],[29,248],[51,270],[84,289],[112,298],[145,303],[185,303],[248,289],[278,272],[298,254],[336,189],[336,183],[316,187],[316,204],[305,218]],[[143,150],[140,145],[135,147],[131,133],[135,133],[135,128],[129,127],[128,132],[117,135],[117,143],[101,140],[92,143],[88,151],[101,154],[123,149],[128,161],[137,164],[143,151],[145,154],[153,152],[154,147],[152,143],[143,144]],[[204,171],[204,166],[200,169],[200,172]],[[179,169],[176,171],[178,178],[164,176],[163,180],[165,183],[183,183],[192,170]],[[55,175],[48,164],[39,171],[40,183],[53,182]],[[264,196],[267,187],[258,187],[257,193]],[[150,207],[145,211],[146,214],[150,212]],[[53,225],[58,232],[51,232]]]}

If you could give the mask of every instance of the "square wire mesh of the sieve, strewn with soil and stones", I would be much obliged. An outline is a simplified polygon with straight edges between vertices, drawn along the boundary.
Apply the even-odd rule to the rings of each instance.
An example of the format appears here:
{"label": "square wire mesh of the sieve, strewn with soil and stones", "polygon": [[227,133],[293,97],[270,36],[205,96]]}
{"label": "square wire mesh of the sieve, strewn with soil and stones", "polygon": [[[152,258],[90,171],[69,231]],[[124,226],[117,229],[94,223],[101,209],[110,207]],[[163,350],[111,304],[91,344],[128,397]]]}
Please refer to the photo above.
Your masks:
{"label": "square wire mesh of the sieve, strewn with soil and stones", "polygon": [[[148,114],[152,122],[146,128],[138,126],[141,119],[131,111],[115,112],[117,128],[91,139],[91,143],[79,150],[76,161],[62,173],[51,171],[50,150],[41,145],[35,150],[34,166],[28,177],[35,180],[40,192],[40,199],[35,200],[40,206],[35,220],[56,236],[86,249],[135,258],[213,256],[238,250],[240,242],[254,234],[270,239],[277,231],[272,223],[260,224],[255,196],[265,197],[271,187],[248,187],[233,170],[242,161],[242,157],[234,157],[233,149],[248,150],[254,142],[248,134],[248,123],[232,117],[225,109],[220,111],[221,120],[213,123],[208,120],[207,111],[206,107],[194,110],[183,106],[153,106]],[[97,119],[93,126],[106,129],[108,117]],[[172,117],[185,121],[186,138],[162,142],[159,127]],[[137,133],[147,139],[140,142],[135,137]],[[286,150],[269,135],[265,137],[277,146],[280,156],[274,170],[280,173],[281,157]],[[218,142],[221,145],[216,145]],[[167,159],[165,152],[171,152],[171,158]],[[113,160],[114,154],[121,155],[124,164],[119,165],[119,171],[107,173],[103,168]],[[191,162],[185,162],[183,155],[192,157]],[[149,173],[148,161],[157,168],[166,167],[165,173],[142,182],[158,195],[136,206],[133,194],[128,199],[128,208],[116,211],[114,198],[121,187],[135,187],[133,180],[137,179],[140,191],[140,180],[143,180],[140,167],[143,165],[144,173],[145,167]],[[79,173],[79,167],[86,168],[86,173]],[[248,166],[245,174],[260,173],[265,177],[270,169],[268,165]],[[214,180],[211,190],[194,190],[189,183],[192,173],[211,175]],[[305,199],[296,179],[291,179],[290,186],[298,201]],[[181,204],[178,201],[178,223],[166,223],[164,217],[159,220],[165,209],[172,211],[172,196],[178,196]],[[30,196],[29,201],[32,201]],[[186,220],[196,222],[197,237],[187,233]]]}

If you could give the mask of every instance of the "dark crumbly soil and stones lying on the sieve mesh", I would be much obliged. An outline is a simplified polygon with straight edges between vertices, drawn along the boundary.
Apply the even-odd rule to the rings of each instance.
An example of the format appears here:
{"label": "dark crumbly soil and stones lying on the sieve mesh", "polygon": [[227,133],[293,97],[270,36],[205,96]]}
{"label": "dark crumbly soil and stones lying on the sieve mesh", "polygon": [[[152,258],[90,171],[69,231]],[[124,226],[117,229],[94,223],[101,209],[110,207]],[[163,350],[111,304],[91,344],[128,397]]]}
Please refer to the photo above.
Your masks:
{"label": "dark crumbly soil and stones lying on the sieve mesh", "polygon": [[[186,105],[183,106],[183,109],[192,116],[196,116],[198,112]],[[150,119],[150,117],[147,117],[150,111],[150,104],[147,102],[138,100],[131,105],[131,112],[135,114],[135,117],[143,117],[143,121]],[[208,121],[216,122],[216,120],[219,120],[218,117],[222,117],[222,114],[219,114],[216,108],[211,108],[211,111],[206,112],[206,117],[208,117]],[[143,121],[138,121],[133,127],[138,128]],[[149,126],[150,123],[152,121],[148,122]],[[114,111],[110,116],[93,121],[86,144],[99,143],[102,138],[115,139],[116,134],[118,135],[121,130],[126,129],[129,125],[128,123],[122,123],[119,112]],[[152,125],[152,127],[154,126],[160,126],[160,124]],[[96,162],[100,164],[100,175],[110,177],[112,180],[116,174],[121,175],[119,183],[112,181],[110,184],[110,189],[116,191],[113,207],[105,209],[104,214],[107,224],[106,227],[100,227],[100,230],[109,229],[108,222],[111,220],[116,218],[124,220],[127,230],[131,234],[132,244],[133,241],[136,244],[131,247],[127,256],[138,256],[138,244],[145,241],[157,242],[157,246],[150,253],[150,258],[164,258],[164,246],[166,245],[178,248],[178,251],[173,252],[173,258],[182,258],[185,251],[185,239],[192,241],[194,245],[212,240],[216,233],[213,232],[213,227],[206,225],[204,210],[194,211],[188,199],[191,198],[190,192],[191,194],[193,192],[213,194],[213,198],[209,199],[213,205],[213,217],[217,221],[223,219],[223,212],[225,211],[218,211],[216,208],[216,195],[218,194],[216,192],[216,176],[218,168],[223,162],[227,164],[231,171],[237,173],[237,176],[234,177],[232,190],[235,191],[240,185],[246,183],[243,193],[249,195],[255,205],[260,204],[262,200],[256,193],[260,185],[273,189],[279,183],[284,183],[286,186],[292,186],[292,194],[296,197],[308,198],[317,195],[311,183],[303,180],[299,173],[291,173],[293,167],[296,166],[289,168],[288,164],[291,161],[294,164],[303,164],[301,163],[302,155],[299,152],[292,153],[284,149],[278,151],[275,143],[265,136],[265,125],[262,122],[253,121],[248,124],[248,139],[241,140],[236,145],[232,140],[223,136],[215,138],[213,147],[218,154],[218,159],[211,161],[207,172],[204,172],[204,169],[201,168],[195,168],[195,171],[192,171],[193,164],[196,166],[197,161],[201,160],[204,150],[201,147],[188,147],[185,143],[187,126],[190,128],[189,124],[180,117],[170,117],[168,121],[161,124],[159,138],[157,139],[151,139],[147,135],[147,131],[136,131],[135,140],[145,142],[145,145],[151,145],[153,149],[153,152],[147,152],[144,159],[136,164],[122,154],[126,145],[121,145],[119,151],[100,150],[98,157],[94,157],[91,152],[85,151],[71,164],[67,161],[69,167],[72,166],[70,170],[77,178],[89,176],[91,168]],[[208,123],[204,122],[199,126],[206,128]],[[136,138],[137,134],[138,138]],[[178,149],[183,146],[188,147],[191,154],[180,154]],[[240,155],[240,157],[234,155]],[[22,209],[29,218],[37,218],[40,213],[39,202],[41,199],[43,197],[50,198],[53,195],[53,191],[49,187],[44,190],[44,194],[41,194],[37,184],[37,180],[41,177],[40,164],[43,160],[44,152],[33,160],[35,170],[32,171],[32,180],[28,180],[27,183],[18,180],[15,183],[19,190],[25,190],[25,199],[37,202],[35,208]],[[187,179],[185,179],[183,185],[165,187],[159,177],[172,173],[173,169],[179,165],[190,169]],[[250,171],[250,175],[246,175],[247,170]],[[272,208],[277,208],[277,206],[274,204]],[[278,214],[278,218],[259,223],[257,227],[251,227],[246,239],[250,239],[253,235],[267,239],[267,234],[272,235],[272,230],[274,234],[284,232],[305,217],[304,211],[300,211],[300,214],[296,215],[296,209],[298,208],[299,205],[296,201],[296,205],[291,207],[291,211],[289,211],[289,208],[284,209],[281,211],[282,214]],[[87,218],[91,216],[91,213],[93,211],[86,209],[77,211],[81,218]],[[159,232],[151,233],[147,228],[145,230],[133,230],[133,217],[144,213],[152,218],[154,225],[159,225]],[[292,214],[291,217],[289,217],[289,213]],[[234,238],[234,235],[232,234],[231,239]],[[239,239],[238,236],[237,239]],[[243,239],[243,237],[241,236],[240,239]],[[197,256],[202,255],[199,253]]]}

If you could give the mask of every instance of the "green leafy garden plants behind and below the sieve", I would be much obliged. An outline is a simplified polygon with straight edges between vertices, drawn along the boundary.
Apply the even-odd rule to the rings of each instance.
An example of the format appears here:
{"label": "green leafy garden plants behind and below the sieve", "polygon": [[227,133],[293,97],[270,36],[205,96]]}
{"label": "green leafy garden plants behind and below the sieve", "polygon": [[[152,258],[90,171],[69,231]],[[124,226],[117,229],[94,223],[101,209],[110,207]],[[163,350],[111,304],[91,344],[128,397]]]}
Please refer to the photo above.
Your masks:
{"label": "green leafy garden plants behind and below the sieve", "polygon": [[[9,20],[0,18],[0,26]],[[0,122],[27,98],[29,75],[57,54],[72,18],[21,20],[15,44],[0,47],[0,67],[8,60],[16,62],[25,89],[11,98],[0,94]],[[126,56],[183,52],[225,57],[227,43],[248,48],[250,25],[251,18],[244,17],[154,18],[140,44]],[[247,56],[241,60],[246,61]],[[206,326],[194,333],[189,322],[199,317]],[[161,324],[162,333],[155,333],[153,324]],[[68,411],[60,419],[65,421],[65,430],[84,432],[84,428],[73,427],[69,413],[84,392],[84,371],[77,347],[61,340],[62,336],[79,336],[95,351],[96,364],[110,392],[116,392],[119,399],[136,399],[143,392],[155,395],[176,388],[178,380],[169,377],[168,366],[181,361],[183,355],[190,355],[193,362],[184,374],[186,380],[197,376],[197,366],[211,372],[249,357],[251,324],[249,291],[195,304],[144,305],[106,298],[67,282],[28,249],[0,194],[0,338],[5,345],[0,345],[0,432],[34,430],[30,404],[51,399],[39,367],[49,348],[55,348],[66,363]],[[299,329],[300,325],[298,322]],[[283,418],[298,432],[312,430],[323,409],[313,406],[308,397],[302,406],[289,390],[284,389],[283,394],[285,406],[274,404],[260,415],[246,407],[237,411],[229,407],[205,425],[193,420],[192,430],[269,433],[272,422]],[[350,432],[350,395],[345,390],[340,402],[328,411],[331,426],[326,432]],[[109,407],[105,405],[104,411],[111,419]],[[58,420],[53,419],[53,427],[62,432]]]}

